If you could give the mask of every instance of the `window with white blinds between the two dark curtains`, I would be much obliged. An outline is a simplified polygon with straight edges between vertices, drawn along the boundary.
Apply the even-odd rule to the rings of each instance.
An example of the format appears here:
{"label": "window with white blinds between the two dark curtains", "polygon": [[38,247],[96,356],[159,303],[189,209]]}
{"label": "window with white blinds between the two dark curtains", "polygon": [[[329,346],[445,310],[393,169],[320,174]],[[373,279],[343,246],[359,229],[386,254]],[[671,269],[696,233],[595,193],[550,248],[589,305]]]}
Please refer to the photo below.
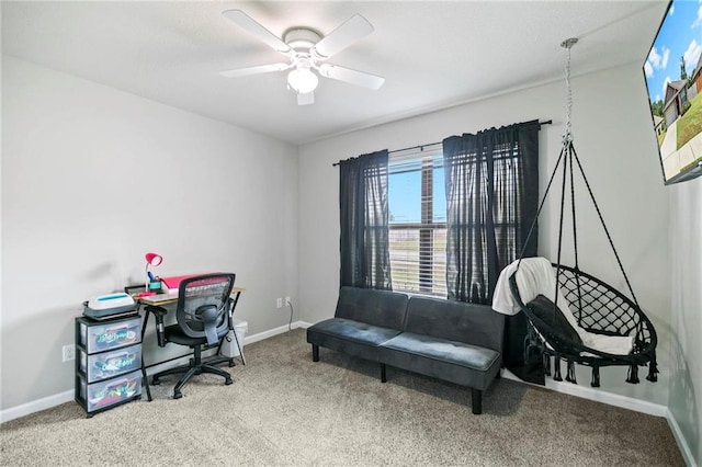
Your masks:
{"label": "window with white blinds between the two dark curtains", "polygon": [[388,162],[393,289],[446,296],[446,197],[442,146],[392,153]]}

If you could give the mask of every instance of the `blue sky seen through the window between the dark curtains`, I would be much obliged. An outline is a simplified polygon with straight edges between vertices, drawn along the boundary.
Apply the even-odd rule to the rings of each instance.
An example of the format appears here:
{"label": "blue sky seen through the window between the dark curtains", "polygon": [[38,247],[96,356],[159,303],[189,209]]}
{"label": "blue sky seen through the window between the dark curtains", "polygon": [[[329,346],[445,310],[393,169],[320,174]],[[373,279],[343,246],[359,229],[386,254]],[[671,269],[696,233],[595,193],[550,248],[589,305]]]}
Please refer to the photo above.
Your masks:
{"label": "blue sky seen through the window between the dark curtains", "polygon": [[[446,193],[443,168],[434,169],[433,221],[446,221]],[[390,224],[421,221],[421,171],[390,173],[388,176]]]}

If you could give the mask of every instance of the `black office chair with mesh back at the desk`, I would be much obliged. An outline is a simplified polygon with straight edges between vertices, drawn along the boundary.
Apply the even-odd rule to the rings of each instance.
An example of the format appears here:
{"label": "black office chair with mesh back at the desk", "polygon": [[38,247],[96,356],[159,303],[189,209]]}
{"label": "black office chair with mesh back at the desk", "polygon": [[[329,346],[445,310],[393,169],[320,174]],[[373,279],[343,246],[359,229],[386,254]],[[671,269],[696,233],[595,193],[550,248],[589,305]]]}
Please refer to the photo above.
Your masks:
{"label": "black office chair with mesh back at the desk", "polygon": [[158,385],[162,376],[184,373],[173,388],[173,399],[183,397],[181,389],[185,383],[201,373],[219,375],[225,378],[225,385],[233,383],[231,375],[227,372],[202,361],[202,351],[203,348],[216,346],[229,331],[229,294],[235,277],[230,273],[213,273],[183,280],[178,289],[176,324],[163,328],[162,317],[166,310],[150,307],[150,311],[157,317],[160,346],[173,342],[193,349],[193,358],[188,365],[157,373],[151,379],[151,384]]}

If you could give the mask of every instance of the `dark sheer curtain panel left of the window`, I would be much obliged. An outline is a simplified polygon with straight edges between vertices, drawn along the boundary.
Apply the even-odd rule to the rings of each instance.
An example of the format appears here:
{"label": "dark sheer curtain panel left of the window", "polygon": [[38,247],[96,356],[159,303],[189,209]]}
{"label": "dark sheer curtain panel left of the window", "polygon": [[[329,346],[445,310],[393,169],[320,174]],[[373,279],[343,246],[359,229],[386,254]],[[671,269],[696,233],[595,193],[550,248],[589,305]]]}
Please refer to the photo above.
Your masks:
{"label": "dark sheer curtain panel left of the window", "polygon": [[387,150],[339,162],[341,286],[392,289]]}

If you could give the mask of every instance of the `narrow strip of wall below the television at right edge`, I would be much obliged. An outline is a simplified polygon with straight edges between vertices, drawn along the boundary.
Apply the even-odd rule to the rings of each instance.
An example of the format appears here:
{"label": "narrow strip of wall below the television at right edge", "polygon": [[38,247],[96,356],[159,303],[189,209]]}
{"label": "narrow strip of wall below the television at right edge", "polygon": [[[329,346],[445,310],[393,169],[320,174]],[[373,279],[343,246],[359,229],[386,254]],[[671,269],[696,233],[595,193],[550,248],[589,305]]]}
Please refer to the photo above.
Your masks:
{"label": "narrow strip of wall below the television at right edge", "polygon": [[672,342],[669,408],[702,465],[702,178],[669,187]]}

